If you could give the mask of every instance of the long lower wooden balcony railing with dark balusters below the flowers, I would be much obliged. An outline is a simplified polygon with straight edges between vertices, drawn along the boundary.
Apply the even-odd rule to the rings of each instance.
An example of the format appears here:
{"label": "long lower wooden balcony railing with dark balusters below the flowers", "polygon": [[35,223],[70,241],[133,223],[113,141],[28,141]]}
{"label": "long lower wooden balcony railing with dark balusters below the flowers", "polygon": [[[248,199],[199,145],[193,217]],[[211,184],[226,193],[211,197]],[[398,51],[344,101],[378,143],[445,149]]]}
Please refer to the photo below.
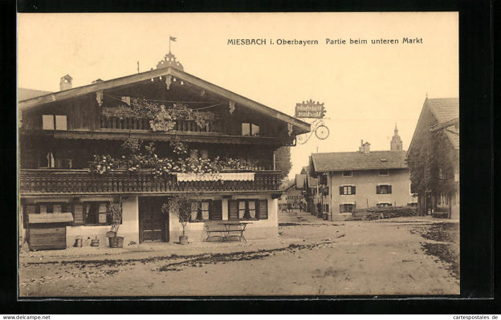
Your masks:
{"label": "long lower wooden balcony railing with dark balusters below the flowers", "polygon": [[154,194],[178,192],[279,191],[280,171],[256,171],[253,180],[178,181],[176,174],[156,176],[151,171],[96,174],[88,170],[21,169],[21,195]]}

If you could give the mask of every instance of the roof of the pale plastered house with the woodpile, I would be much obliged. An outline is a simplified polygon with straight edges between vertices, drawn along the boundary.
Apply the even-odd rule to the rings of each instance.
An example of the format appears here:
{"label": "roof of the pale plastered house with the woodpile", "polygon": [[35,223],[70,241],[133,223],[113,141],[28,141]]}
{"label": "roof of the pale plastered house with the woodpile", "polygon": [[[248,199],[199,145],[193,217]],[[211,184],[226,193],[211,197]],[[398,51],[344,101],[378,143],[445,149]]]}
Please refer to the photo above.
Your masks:
{"label": "roof of the pale plastered house with the woodpile", "polygon": [[314,153],[312,159],[316,172],[407,168],[405,151]]}

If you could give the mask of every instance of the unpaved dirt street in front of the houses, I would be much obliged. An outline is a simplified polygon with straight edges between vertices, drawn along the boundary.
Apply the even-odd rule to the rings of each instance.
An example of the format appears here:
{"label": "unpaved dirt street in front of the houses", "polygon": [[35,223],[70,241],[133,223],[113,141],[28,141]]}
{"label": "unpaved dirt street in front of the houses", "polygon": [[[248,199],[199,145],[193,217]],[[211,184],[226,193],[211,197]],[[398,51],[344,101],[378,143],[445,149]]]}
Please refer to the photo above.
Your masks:
{"label": "unpaved dirt street in front of the houses", "polygon": [[458,223],[444,221],[328,222],[292,212],[281,213],[273,245],[21,257],[20,296],[458,294]]}

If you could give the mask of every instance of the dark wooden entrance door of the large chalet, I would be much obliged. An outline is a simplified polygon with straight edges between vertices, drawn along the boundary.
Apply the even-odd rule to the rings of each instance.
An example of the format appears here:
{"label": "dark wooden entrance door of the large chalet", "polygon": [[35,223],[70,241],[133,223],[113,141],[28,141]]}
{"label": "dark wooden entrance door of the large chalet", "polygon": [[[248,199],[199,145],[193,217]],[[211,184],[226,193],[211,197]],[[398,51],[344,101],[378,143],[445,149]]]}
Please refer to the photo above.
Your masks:
{"label": "dark wooden entrance door of the large chalet", "polygon": [[139,197],[139,242],[169,241],[169,216],[161,211],[165,197]]}

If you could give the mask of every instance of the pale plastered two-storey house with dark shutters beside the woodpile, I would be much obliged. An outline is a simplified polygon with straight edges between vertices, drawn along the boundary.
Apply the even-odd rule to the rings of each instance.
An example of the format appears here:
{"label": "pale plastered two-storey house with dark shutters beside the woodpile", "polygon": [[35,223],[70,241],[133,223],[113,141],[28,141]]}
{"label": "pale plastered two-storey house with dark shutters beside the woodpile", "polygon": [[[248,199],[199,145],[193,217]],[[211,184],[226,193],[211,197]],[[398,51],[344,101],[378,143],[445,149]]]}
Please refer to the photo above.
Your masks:
{"label": "pale plastered two-storey house with dark shutters beside the woodpile", "polygon": [[[395,140],[399,137],[392,147]],[[326,219],[347,219],[357,208],[413,202],[405,151],[371,151],[370,143],[362,141],[358,152],[312,154],[310,165],[322,186]]]}

